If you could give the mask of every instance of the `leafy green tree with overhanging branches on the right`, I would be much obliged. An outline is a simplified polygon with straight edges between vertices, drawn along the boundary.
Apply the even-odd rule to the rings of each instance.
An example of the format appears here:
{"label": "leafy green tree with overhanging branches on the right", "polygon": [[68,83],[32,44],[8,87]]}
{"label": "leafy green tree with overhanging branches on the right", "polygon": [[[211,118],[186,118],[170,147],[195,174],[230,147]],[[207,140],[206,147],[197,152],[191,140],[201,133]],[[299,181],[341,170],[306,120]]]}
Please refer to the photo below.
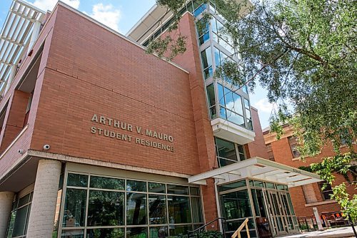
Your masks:
{"label": "leafy green tree with overhanging branches on the right", "polygon": [[[181,17],[179,10],[186,1],[156,2],[173,11],[175,29]],[[338,158],[344,156],[348,162],[345,160],[343,165],[356,162],[356,1],[253,0],[253,6],[244,0],[213,2],[226,19],[219,33],[231,39],[240,58],[238,63],[224,62],[215,76],[228,79],[238,88],[246,84],[253,91],[256,83],[266,88],[269,102],[278,105],[271,116],[271,131],[279,138],[282,125],[291,123],[302,158],[317,155],[321,148],[332,143],[336,157],[313,165],[332,183],[332,172],[337,170],[328,171],[328,166],[338,167]],[[207,23],[203,22],[203,26]],[[185,39],[180,40],[182,53]],[[149,53],[173,47],[170,44],[174,40],[162,41],[161,45],[157,41],[149,44]],[[342,154],[341,143],[348,148],[348,154]],[[356,205],[356,196],[346,202],[343,187],[346,188],[336,187],[333,197],[342,207]],[[345,212],[356,218],[356,207],[350,208]]]}

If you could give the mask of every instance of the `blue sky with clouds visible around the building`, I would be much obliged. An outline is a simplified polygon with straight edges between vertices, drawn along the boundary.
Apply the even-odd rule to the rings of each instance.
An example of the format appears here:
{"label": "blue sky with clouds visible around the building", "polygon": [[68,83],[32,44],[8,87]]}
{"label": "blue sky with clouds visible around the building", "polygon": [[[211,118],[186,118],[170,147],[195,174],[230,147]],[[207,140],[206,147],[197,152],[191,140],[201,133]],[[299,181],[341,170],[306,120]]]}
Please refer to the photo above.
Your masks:
{"label": "blue sky with clouds visible around the building", "polygon": [[[26,0],[39,9],[52,10],[57,0]],[[154,6],[155,0],[62,0],[75,9],[124,35]],[[12,0],[0,0],[0,26],[4,25]],[[268,103],[267,92],[258,86],[250,94],[251,105],[258,109],[261,128],[266,128],[273,105]]]}

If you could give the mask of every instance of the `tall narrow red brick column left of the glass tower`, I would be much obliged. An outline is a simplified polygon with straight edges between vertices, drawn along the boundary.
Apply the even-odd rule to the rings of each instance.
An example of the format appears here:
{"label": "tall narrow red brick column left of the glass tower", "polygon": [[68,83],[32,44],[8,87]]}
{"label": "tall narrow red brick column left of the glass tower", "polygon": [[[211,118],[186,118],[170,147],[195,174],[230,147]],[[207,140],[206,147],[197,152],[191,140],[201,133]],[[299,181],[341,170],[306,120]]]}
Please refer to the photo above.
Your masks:
{"label": "tall narrow red brick column left of the glass tower", "polygon": [[[199,165],[201,172],[205,172],[218,167],[218,162],[216,160],[211,120],[208,118],[206,91],[202,78],[196,29],[191,14],[186,13],[182,17],[179,29],[183,36],[187,36],[186,52],[176,56],[174,62],[190,72],[189,86],[194,112]],[[205,219],[206,222],[210,222],[218,217],[213,179],[207,180],[207,185],[203,186],[202,195]],[[210,229],[216,229],[216,227],[210,227]]]}

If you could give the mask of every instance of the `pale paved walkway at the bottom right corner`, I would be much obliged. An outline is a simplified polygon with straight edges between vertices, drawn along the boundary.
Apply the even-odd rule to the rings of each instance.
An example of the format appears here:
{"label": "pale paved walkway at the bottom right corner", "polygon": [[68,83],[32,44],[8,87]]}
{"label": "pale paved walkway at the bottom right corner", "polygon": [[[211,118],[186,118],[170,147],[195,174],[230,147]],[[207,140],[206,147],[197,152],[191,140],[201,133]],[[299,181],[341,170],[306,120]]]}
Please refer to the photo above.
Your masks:
{"label": "pale paved walkway at the bottom right corner", "polygon": [[352,227],[338,227],[332,229],[325,229],[323,231],[316,232],[305,232],[302,234],[289,234],[287,236],[283,236],[283,238],[328,238],[328,237],[354,237]]}

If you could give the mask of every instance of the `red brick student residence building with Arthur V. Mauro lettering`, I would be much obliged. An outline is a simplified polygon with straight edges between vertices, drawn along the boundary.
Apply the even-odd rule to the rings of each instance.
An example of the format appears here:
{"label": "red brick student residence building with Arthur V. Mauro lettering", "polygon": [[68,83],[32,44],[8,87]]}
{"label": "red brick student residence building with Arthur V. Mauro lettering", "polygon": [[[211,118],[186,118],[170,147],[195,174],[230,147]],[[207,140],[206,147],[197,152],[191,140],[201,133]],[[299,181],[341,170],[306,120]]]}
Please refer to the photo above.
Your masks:
{"label": "red brick student residence building with Arthur V. Mauro lettering", "polygon": [[[154,6],[126,36],[59,2],[14,0],[1,31],[0,237],[251,237],[297,232],[288,187],[318,176],[266,160],[245,87],[213,79],[230,57],[213,4],[187,1],[187,51],[145,53],[171,14]],[[163,24],[159,24],[159,23]],[[264,159],[265,158],[265,159]]]}

